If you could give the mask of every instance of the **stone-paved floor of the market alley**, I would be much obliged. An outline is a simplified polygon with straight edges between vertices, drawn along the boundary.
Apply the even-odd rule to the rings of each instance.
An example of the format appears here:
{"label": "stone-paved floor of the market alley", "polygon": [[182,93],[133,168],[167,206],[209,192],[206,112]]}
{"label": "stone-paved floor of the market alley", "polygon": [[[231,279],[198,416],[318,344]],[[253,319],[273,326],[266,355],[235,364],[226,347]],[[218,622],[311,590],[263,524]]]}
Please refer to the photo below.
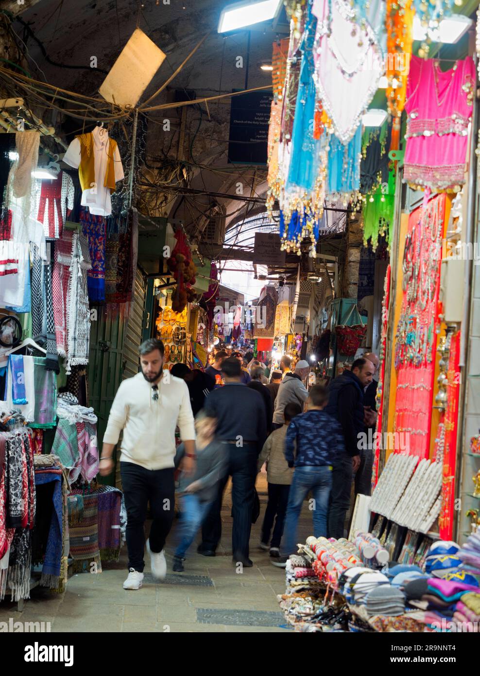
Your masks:
{"label": "stone-paved floor of the market alley", "polygon": [[[36,587],[18,613],[16,604],[0,604],[0,621],[50,622],[51,631],[180,631],[243,632],[291,631],[279,612],[277,594],[285,590],[285,571],[270,563],[268,552],[258,544],[267,502],[265,474],[257,480],[261,515],[252,527],[250,558],[254,566],[237,573],[232,564],[230,491],[222,510],[223,535],[215,558],[196,553],[193,545],[184,573],[171,573],[175,527],[167,543],[167,579],[154,582],[146,555],[144,586],[126,592],[126,548],[120,561],[104,564],[99,575],[84,573],[68,581],[65,594],[51,594]],[[304,504],[298,541],[311,534],[311,512]],[[199,537],[199,536],[198,536]]]}

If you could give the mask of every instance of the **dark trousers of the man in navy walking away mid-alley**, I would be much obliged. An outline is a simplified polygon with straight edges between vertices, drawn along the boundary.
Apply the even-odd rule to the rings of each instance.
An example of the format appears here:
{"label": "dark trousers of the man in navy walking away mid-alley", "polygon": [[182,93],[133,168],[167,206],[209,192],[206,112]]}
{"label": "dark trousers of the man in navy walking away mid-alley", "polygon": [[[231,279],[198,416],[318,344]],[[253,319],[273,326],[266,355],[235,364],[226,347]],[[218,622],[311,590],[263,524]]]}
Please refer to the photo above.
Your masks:
{"label": "dark trousers of the man in navy walking away mid-alley", "polygon": [[255,498],[255,479],[257,478],[258,449],[254,443],[244,443],[237,448],[234,443],[226,443],[229,455],[228,473],[219,482],[215,498],[202,526],[203,550],[215,552],[221,538],[221,502],[223,490],[232,477],[232,554],[238,560],[248,558],[248,541],[252,528],[252,510]]}

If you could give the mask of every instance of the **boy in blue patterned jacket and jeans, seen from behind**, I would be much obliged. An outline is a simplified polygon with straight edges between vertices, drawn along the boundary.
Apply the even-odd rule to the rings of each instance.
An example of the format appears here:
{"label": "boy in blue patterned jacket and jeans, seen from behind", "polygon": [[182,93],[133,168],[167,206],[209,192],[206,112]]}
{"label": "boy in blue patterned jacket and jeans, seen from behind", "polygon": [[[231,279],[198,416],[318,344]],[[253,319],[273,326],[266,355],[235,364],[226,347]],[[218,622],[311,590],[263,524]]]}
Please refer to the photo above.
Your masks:
{"label": "boy in blue patterned jacket and jeans, seen from behind", "polygon": [[331,474],[336,458],[345,452],[340,424],[323,411],[327,401],[327,389],[323,385],[313,385],[306,400],[306,413],[296,416],[288,427],[285,458],[295,471],[288,496],[282,556],[272,561],[274,566],[284,567],[288,556],[296,552],[298,517],[310,491],[313,496],[313,534],[315,537],[327,535]]}

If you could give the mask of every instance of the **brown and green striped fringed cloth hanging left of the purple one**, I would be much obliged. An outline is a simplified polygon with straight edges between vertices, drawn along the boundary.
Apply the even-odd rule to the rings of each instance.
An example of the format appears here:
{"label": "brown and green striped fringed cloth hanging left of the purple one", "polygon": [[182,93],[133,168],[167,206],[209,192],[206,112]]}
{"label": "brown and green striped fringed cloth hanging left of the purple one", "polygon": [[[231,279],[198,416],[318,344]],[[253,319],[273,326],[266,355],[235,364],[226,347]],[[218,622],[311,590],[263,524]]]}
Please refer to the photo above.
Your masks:
{"label": "brown and green striped fringed cloth hanging left of the purple one", "polygon": [[90,572],[90,564],[101,573],[99,552],[99,504],[96,495],[83,496],[83,518],[78,525],[70,524],[70,556],[74,559],[73,573]]}

